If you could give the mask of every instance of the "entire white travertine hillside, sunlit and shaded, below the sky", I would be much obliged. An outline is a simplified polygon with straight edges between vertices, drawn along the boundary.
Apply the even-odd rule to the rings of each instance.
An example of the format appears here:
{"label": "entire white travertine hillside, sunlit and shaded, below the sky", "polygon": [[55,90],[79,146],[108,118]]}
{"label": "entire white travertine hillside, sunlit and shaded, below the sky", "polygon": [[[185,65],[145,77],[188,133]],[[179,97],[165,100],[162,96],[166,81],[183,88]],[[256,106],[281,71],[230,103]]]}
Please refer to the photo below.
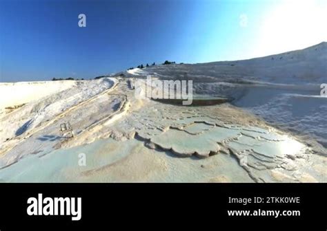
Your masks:
{"label": "entire white travertine hillside, sunlit and shaded, below the sky", "polygon": [[[42,98],[33,94],[27,101],[32,90],[24,89],[13,102],[1,104],[7,109],[0,110],[0,181],[326,182],[326,132],[321,129],[326,104],[315,96],[317,83],[326,79],[326,44],[248,61],[133,69],[122,78],[61,87],[49,82],[44,85],[48,93],[42,90]],[[315,67],[310,75],[307,67]],[[264,115],[273,112],[286,129],[228,102],[182,107],[135,98],[131,78],[148,74],[198,81],[197,94],[225,94],[236,99],[236,106],[268,99],[254,108]],[[0,92],[8,85],[14,86],[1,84]],[[295,107],[304,99],[293,91],[306,94],[313,115]],[[303,119],[289,121],[293,109]],[[72,139],[61,137],[63,122],[72,125]],[[290,128],[308,128],[306,135],[316,139]],[[86,166],[78,164],[80,153]]]}

